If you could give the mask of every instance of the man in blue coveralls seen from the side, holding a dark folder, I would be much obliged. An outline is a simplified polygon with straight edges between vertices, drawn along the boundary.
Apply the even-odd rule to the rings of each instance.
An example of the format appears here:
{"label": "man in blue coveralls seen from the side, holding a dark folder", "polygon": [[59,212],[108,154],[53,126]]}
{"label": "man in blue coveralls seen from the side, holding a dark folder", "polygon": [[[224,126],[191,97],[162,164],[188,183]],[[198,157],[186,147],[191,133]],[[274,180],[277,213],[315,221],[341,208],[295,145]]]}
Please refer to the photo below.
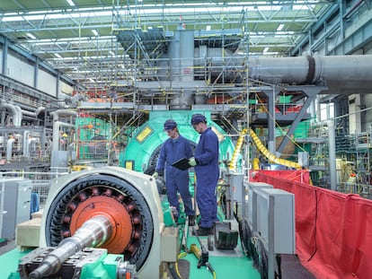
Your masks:
{"label": "man in blue coveralls seen from the side, holding a dark folder", "polygon": [[200,134],[194,157],[189,160],[196,174],[196,200],[201,215],[198,236],[213,234],[213,223],[217,221],[216,187],[219,177],[218,137],[202,114],[194,114],[191,125]]}

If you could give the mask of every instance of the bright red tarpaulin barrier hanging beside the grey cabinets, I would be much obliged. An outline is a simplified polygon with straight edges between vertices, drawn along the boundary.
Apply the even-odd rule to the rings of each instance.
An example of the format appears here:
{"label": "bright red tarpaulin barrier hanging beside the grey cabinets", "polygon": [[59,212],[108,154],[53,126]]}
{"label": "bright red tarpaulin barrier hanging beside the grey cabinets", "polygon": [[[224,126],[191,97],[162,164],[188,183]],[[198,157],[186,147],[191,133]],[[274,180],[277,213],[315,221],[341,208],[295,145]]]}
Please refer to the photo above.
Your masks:
{"label": "bright red tarpaulin barrier hanging beside the grey cabinets", "polygon": [[258,170],[250,180],[295,194],[297,256],[316,278],[372,278],[371,200],[311,186],[306,170]]}

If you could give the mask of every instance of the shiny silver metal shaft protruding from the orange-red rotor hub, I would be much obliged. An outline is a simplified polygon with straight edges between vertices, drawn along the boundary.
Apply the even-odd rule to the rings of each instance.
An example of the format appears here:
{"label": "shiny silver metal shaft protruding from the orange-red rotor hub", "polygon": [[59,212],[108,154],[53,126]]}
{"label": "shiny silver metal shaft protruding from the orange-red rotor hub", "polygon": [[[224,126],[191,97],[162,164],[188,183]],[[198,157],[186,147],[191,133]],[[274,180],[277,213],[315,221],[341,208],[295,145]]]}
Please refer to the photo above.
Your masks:
{"label": "shiny silver metal shaft protruding from the orange-red rotor hub", "polygon": [[68,257],[86,247],[97,247],[110,239],[112,226],[105,216],[97,215],[75,232],[74,236],[62,240],[58,248],[50,252],[40,266],[31,272],[30,279],[40,279],[58,272]]}

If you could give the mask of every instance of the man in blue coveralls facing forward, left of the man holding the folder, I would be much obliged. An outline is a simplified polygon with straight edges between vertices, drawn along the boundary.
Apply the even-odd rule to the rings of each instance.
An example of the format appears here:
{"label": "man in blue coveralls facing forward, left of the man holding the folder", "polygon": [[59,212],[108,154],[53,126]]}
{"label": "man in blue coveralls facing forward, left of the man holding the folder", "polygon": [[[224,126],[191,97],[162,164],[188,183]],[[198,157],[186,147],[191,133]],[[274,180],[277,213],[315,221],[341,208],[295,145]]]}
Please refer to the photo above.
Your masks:
{"label": "man in blue coveralls facing forward, left of the man holding the folder", "polygon": [[191,145],[186,138],[180,135],[177,123],[173,119],[165,121],[164,131],[169,138],[162,145],[153,177],[156,179],[159,173],[163,173],[165,170],[165,187],[169,205],[175,209],[174,219],[177,220],[180,214],[178,191],[182,197],[184,212],[188,215],[189,225],[193,226],[195,225],[195,212],[192,209],[189,191],[189,170],[179,170],[172,166],[173,162],[182,158],[190,159],[192,156]]}

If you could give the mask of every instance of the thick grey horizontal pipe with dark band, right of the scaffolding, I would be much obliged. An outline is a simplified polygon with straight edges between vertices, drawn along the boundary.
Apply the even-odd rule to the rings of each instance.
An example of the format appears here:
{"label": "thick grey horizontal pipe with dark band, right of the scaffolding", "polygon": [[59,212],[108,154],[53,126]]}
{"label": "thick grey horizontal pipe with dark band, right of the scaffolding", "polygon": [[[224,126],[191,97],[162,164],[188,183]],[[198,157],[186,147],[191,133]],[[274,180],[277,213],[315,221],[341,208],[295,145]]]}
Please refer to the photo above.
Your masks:
{"label": "thick grey horizontal pipe with dark band, right of the scaffolding", "polygon": [[325,85],[322,93],[372,92],[372,55],[257,57],[249,76],[270,83]]}

